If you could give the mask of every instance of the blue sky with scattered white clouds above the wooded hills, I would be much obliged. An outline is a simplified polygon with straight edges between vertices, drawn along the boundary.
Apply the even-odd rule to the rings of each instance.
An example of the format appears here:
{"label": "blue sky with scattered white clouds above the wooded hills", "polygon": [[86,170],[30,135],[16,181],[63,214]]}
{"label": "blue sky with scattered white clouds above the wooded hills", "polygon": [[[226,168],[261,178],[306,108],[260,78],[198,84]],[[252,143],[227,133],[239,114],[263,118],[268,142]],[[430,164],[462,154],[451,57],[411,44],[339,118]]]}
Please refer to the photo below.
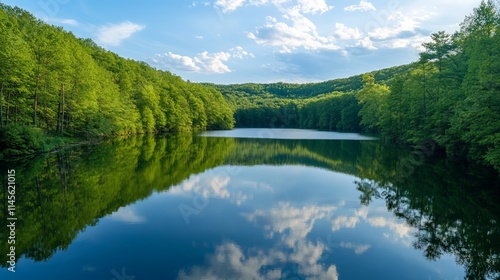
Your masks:
{"label": "blue sky with scattered white clouds above the wooded hills", "polygon": [[307,83],[410,63],[481,0],[0,0],[193,82]]}

